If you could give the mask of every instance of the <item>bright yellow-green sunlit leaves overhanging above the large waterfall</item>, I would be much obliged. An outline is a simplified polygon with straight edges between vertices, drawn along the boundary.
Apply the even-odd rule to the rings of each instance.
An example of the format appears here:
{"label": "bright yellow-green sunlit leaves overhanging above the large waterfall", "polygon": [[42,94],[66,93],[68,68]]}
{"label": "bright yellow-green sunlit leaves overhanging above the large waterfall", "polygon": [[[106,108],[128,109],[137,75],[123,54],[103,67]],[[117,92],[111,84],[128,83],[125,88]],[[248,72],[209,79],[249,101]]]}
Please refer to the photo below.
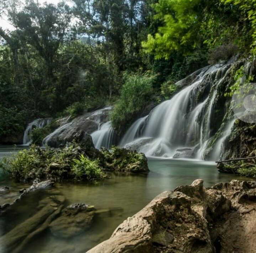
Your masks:
{"label": "bright yellow-green sunlit leaves overhanging above the large waterfall", "polygon": [[[155,18],[163,22],[158,33],[148,35],[147,42],[142,42],[147,53],[153,53],[156,59],[168,58],[174,50],[188,53],[200,43],[198,32],[203,7],[202,0],[160,0],[155,5]],[[202,12],[202,9],[200,10]]]}

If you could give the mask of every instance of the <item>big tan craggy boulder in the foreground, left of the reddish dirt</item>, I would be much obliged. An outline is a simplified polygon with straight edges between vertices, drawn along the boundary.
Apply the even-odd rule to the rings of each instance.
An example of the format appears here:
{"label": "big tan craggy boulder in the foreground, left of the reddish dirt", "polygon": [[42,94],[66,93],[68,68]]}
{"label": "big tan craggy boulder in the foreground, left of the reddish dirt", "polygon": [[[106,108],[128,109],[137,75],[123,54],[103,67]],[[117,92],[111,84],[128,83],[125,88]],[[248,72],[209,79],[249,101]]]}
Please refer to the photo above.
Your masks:
{"label": "big tan craggy boulder in the foreground, left of the reddish dirt", "polygon": [[187,195],[163,192],[87,253],[151,253],[161,252],[163,246],[164,252],[175,248],[175,252],[213,253],[207,221],[191,207]]}

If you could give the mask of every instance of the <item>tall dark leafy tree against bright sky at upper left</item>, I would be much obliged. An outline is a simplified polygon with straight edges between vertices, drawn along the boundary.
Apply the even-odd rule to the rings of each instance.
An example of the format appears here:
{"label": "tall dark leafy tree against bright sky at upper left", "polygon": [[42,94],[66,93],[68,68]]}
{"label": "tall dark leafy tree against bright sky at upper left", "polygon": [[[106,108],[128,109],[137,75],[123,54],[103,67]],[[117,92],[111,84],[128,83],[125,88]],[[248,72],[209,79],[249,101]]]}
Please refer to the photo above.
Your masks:
{"label": "tall dark leafy tree against bright sky at upper left", "polygon": [[54,57],[61,43],[68,38],[71,11],[64,3],[40,5],[27,0],[20,11],[9,12],[23,44],[30,44],[45,60],[48,77],[53,77]]}

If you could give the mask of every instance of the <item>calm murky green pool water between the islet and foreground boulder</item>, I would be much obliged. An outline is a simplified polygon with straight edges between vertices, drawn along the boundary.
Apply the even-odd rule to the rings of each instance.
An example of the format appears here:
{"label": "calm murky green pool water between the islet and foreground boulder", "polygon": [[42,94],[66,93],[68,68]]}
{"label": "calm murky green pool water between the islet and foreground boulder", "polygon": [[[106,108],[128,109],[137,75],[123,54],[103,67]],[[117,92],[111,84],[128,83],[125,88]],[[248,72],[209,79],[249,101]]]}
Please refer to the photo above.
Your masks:
{"label": "calm murky green pool water between the islet and foreground boulder", "polygon": [[[0,147],[0,157],[3,153],[8,155],[10,150],[11,148]],[[98,185],[57,183],[55,189],[66,197],[66,205],[81,202],[94,205],[99,210],[122,208],[123,211],[119,211],[113,216],[95,219],[88,231],[70,239],[54,237],[49,230],[46,230],[22,252],[86,252],[96,244],[108,239],[122,221],[134,215],[163,191],[173,190],[179,185],[190,185],[197,178],[204,180],[205,187],[212,186],[217,182],[245,179],[234,175],[220,174],[214,163],[205,161],[150,158],[148,166],[150,173],[147,176],[111,175],[111,178]],[[4,186],[9,186],[11,189],[8,194],[0,193],[0,204],[6,203],[7,200],[11,202],[19,195],[18,189],[27,187],[25,184],[14,182],[8,175],[0,174],[0,188]],[[10,197],[8,197],[9,194]],[[38,201],[44,197],[44,192],[37,193],[36,197],[34,195],[26,199],[24,203],[22,200],[11,209],[10,213],[7,212],[0,216],[0,235],[33,215],[36,212]],[[5,252],[7,251],[1,253]]]}

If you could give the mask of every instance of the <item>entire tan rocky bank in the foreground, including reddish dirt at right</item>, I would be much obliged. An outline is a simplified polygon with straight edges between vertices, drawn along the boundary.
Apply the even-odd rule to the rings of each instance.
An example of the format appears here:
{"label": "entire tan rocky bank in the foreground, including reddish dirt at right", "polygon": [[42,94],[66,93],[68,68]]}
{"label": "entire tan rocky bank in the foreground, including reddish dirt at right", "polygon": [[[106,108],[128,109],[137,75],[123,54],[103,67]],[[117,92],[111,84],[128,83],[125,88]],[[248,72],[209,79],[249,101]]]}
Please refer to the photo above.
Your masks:
{"label": "entire tan rocky bank in the foreground, including reddish dirt at right", "polygon": [[256,252],[256,182],[203,180],[154,198],[87,253]]}

